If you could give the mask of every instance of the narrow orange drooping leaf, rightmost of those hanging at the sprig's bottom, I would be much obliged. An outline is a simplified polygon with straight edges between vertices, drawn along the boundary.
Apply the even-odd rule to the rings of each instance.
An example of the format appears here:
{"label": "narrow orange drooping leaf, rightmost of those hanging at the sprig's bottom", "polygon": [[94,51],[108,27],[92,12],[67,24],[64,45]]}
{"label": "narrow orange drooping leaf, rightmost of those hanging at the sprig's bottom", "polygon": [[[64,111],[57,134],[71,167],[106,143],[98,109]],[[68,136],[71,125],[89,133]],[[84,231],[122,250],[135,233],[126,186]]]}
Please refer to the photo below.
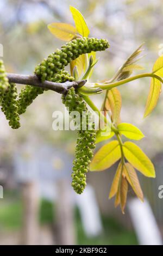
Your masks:
{"label": "narrow orange drooping leaf, rightmost of those hanging at the sprig's bottom", "polygon": [[131,166],[130,163],[126,163],[124,164],[123,172],[130,186],[133,188],[136,196],[143,202],[143,192],[141,190],[139,179],[137,178],[137,174],[134,167]]}

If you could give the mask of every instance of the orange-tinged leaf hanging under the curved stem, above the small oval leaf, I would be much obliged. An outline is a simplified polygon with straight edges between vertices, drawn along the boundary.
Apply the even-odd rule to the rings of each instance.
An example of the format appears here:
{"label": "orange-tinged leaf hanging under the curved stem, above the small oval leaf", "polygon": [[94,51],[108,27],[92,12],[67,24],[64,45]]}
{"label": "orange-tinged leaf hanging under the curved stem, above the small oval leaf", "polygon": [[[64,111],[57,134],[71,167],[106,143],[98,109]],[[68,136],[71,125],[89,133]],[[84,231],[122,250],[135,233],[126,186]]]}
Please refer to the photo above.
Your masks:
{"label": "orange-tinged leaf hanging under the curved stem, above the small oval leaf", "polygon": [[120,112],[122,106],[122,98],[117,88],[108,90],[104,101],[103,111],[111,111],[111,120],[113,123],[120,123]]}

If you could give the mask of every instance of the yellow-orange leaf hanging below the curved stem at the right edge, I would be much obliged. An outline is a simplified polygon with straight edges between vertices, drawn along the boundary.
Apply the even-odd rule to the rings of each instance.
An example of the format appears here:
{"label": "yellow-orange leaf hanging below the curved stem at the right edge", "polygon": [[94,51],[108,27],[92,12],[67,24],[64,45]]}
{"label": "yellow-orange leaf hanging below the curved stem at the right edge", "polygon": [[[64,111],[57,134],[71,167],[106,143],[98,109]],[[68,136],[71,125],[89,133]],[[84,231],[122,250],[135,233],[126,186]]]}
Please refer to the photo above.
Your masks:
{"label": "yellow-orange leaf hanging below the curved stem at the right edge", "polygon": [[152,78],[149,94],[146,102],[144,118],[149,115],[156,107],[161,92],[161,82],[156,78]]}

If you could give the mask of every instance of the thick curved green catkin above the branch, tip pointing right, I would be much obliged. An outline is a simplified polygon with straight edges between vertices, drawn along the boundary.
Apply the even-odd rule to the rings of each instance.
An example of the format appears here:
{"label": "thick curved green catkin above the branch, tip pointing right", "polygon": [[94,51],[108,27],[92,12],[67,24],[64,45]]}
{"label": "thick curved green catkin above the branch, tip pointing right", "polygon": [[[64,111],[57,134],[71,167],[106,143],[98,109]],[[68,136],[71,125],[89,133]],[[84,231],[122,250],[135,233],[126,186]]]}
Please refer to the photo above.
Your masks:
{"label": "thick curved green catkin above the branch, tip pointing right", "polygon": [[72,60],[79,57],[83,53],[90,53],[92,51],[104,51],[109,47],[109,43],[105,39],[96,38],[77,38],[66,45],[57,49],[54,53],[49,54],[47,59],[44,59],[35,68],[35,74],[41,81],[50,81],[56,73],[64,69]]}

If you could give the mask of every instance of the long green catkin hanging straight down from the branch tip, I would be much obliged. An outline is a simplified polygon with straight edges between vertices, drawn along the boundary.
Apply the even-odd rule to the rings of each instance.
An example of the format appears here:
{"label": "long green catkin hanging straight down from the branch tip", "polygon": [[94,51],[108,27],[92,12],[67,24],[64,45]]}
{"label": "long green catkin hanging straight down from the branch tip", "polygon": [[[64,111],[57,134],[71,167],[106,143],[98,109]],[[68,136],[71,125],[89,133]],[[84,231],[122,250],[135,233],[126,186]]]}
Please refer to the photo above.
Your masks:
{"label": "long green catkin hanging straight down from the branch tip", "polygon": [[86,129],[82,129],[82,114],[85,113],[86,115],[90,116],[91,113],[87,110],[83,97],[77,94],[73,87],[68,90],[66,95],[62,95],[62,102],[68,108],[70,115],[72,111],[78,111],[80,114],[80,121],[79,124],[77,124],[78,139],[76,155],[73,161],[71,185],[74,191],[76,191],[78,194],[81,194],[86,186],[86,173],[89,169],[89,164],[93,156],[93,150],[95,149],[95,124],[92,124],[91,130],[88,129],[89,119],[87,119]]}

